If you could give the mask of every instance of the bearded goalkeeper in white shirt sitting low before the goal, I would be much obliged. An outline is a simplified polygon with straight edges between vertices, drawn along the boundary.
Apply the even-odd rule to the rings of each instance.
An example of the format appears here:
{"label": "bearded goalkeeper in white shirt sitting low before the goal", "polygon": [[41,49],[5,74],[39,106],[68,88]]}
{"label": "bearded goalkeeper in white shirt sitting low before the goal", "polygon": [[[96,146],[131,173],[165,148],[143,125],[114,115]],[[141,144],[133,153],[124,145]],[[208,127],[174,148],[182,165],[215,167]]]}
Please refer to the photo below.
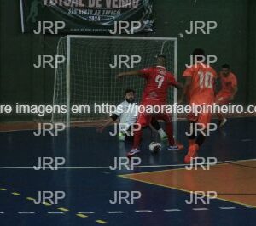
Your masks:
{"label": "bearded goalkeeper in white shirt sitting low before the goal", "polygon": [[[138,105],[135,101],[135,91],[133,89],[125,90],[125,101],[117,106],[117,110],[109,117],[108,121],[97,127],[99,132],[102,132],[105,127],[112,124],[119,118],[119,140],[125,141],[126,135],[131,136],[131,128],[137,121]],[[162,141],[167,139],[165,131],[160,127],[159,122],[152,117],[151,126],[160,135]]]}

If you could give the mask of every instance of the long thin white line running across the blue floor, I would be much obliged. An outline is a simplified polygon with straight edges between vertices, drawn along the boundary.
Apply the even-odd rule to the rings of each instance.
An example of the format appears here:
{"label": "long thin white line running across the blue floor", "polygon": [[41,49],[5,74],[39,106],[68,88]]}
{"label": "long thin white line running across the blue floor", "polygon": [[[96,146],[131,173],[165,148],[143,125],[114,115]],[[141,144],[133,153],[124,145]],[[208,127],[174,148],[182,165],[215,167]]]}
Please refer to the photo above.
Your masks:
{"label": "long thin white line running across the blue floor", "polygon": [[[232,163],[232,162],[238,162],[238,161],[256,161],[256,159],[218,161],[217,164]],[[204,164],[199,163],[197,165],[198,166],[207,165],[207,163],[204,163]],[[134,168],[154,168],[154,167],[185,167],[185,166],[188,166],[188,164],[145,165],[145,166],[133,166],[133,167]],[[195,166],[195,164],[194,164],[194,166]],[[118,167],[118,168],[124,168],[125,169],[127,167]],[[0,169],[34,169],[34,167],[0,167]],[[47,169],[52,169],[52,168],[51,167],[44,167],[44,169],[47,170]],[[109,169],[109,166],[108,167],[58,167],[58,169]],[[131,171],[131,170],[129,170],[129,171]]]}

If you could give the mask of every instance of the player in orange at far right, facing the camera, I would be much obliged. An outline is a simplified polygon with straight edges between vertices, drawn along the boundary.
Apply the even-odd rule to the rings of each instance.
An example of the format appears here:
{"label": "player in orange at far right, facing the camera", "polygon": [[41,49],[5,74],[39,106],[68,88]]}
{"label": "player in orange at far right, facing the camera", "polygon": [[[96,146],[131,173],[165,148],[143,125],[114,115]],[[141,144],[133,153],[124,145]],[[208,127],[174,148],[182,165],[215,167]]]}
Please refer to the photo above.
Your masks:
{"label": "player in orange at far right, facing the camera", "polygon": [[[237,92],[237,80],[236,76],[230,71],[230,65],[222,65],[222,70],[219,73],[221,81],[221,90],[216,95],[216,104],[227,105],[232,101]],[[218,127],[223,127],[227,122],[227,119],[221,114],[218,116]]]}

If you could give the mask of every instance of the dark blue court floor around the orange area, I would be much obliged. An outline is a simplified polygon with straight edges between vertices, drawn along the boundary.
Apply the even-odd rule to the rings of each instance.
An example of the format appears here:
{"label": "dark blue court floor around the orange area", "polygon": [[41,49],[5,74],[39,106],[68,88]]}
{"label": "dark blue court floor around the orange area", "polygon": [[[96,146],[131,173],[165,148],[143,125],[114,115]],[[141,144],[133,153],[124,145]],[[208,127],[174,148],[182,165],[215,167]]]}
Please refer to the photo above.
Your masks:
{"label": "dark blue court floor around the orange area", "polygon": [[[104,133],[97,133],[95,127],[72,128],[57,137],[35,137],[32,130],[0,133],[0,225],[256,225],[256,206],[218,199],[188,205],[188,192],[119,177],[183,168],[186,126],[185,121],[177,122],[177,139],[184,150],[163,147],[158,155],[151,154],[147,130],[140,166],[114,171],[109,169],[114,157],[125,156],[131,143],[110,137],[112,127]],[[207,138],[199,155],[217,157],[218,162],[255,160],[255,127],[253,117],[230,119]],[[66,163],[58,170],[36,171],[33,166],[39,157],[64,157]],[[256,176],[256,168],[250,170]],[[228,175],[223,172],[219,177]],[[38,191],[64,191],[66,197],[58,204],[34,204]],[[110,204],[115,191],[139,191],[142,197],[134,204]],[[256,190],[250,195],[255,199]]]}

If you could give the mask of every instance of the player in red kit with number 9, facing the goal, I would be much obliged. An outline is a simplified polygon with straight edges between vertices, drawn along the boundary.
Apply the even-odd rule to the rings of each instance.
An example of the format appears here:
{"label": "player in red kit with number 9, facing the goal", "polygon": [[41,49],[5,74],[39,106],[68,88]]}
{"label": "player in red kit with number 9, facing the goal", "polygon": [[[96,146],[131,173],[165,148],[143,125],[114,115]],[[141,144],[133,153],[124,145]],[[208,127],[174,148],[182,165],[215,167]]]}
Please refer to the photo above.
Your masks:
{"label": "player in red kit with number 9, facing the goal", "polygon": [[[175,88],[182,88],[182,84],[176,82],[174,76],[170,71],[166,70],[166,57],[159,55],[155,67],[145,68],[138,71],[122,72],[118,77],[122,76],[141,76],[146,80],[146,85],[143,90],[143,98],[141,106],[147,108],[153,106],[164,106],[167,100],[167,91],[171,86]],[[137,118],[137,130],[134,131],[134,141],[131,151],[127,156],[131,157],[136,155],[139,144],[142,138],[142,127],[150,124],[153,114],[142,112],[139,113]],[[166,122],[166,134],[168,137],[169,147],[168,150],[179,150],[178,145],[175,144],[173,138],[172,116],[166,112],[155,114],[156,119]]]}

